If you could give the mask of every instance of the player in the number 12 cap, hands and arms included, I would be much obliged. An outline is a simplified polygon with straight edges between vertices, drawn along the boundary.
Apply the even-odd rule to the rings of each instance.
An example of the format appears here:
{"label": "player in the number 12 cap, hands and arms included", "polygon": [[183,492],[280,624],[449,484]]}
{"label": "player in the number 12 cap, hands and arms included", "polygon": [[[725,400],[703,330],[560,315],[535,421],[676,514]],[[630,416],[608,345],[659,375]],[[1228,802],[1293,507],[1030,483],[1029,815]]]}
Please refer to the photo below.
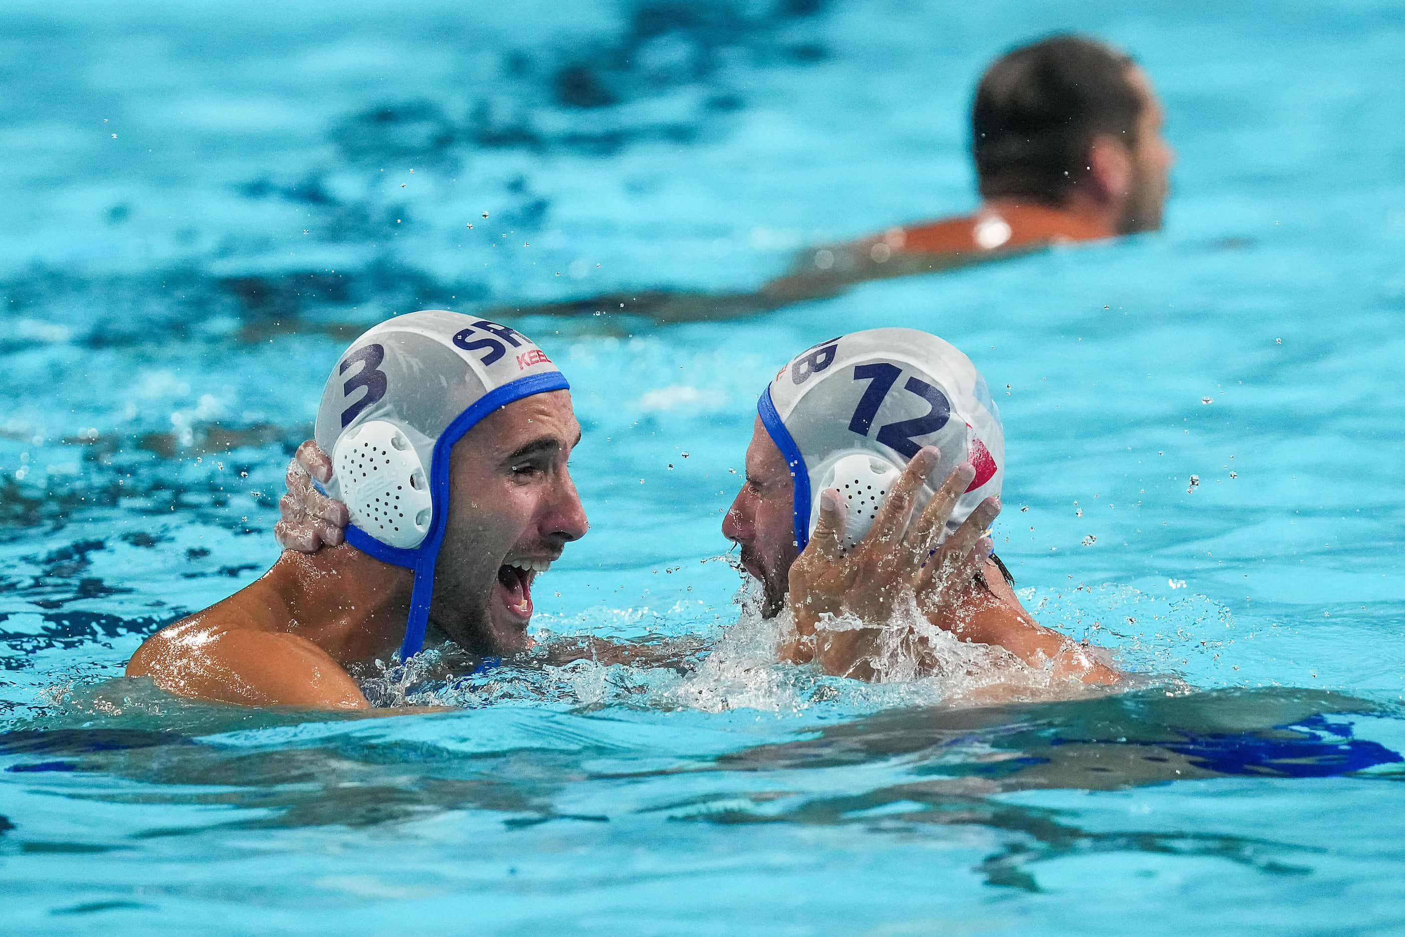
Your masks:
{"label": "player in the number 12 cap, hands and arms included", "polygon": [[[275,528],[287,549],[313,556],[364,538],[375,510],[316,490],[313,479],[334,486],[347,465],[322,435],[288,466]],[[760,614],[781,617],[778,657],[833,676],[920,677],[943,669],[944,632],[1051,681],[1116,683],[1089,649],[1034,622],[992,555],[1003,462],[985,379],[936,336],[871,329],[787,364],[757,403],[746,480],[722,524],[760,586]],[[590,656],[655,655],[596,643]]]}

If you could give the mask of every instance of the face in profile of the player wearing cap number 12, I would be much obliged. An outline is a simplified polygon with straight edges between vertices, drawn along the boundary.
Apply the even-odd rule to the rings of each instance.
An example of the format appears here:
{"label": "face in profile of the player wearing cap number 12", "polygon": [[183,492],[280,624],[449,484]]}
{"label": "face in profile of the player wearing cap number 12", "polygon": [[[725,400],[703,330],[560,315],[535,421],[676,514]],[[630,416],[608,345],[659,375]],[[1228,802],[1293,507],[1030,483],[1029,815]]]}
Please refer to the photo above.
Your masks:
{"label": "face in profile of the player wearing cap number 12", "polygon": [[762,582],[767,617],[784,605],[790,568],[799,555],[792,524],[794,499],[795,483],[785,457],[757,417],[746,447],[746,482],[722,520],[722,535],[742,548],[742,566]]}

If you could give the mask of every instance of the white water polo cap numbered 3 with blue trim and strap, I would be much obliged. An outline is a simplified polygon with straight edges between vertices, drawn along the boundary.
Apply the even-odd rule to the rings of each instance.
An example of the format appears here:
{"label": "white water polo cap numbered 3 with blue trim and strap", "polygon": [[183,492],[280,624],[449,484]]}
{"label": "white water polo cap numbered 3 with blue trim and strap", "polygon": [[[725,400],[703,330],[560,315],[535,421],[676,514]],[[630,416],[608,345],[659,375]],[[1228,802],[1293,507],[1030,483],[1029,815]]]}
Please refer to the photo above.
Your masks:
{"label": "white water polo cap numbered 3 with blue trim and strap", "polygon": [[516,329],[441,309],[382,322],[332,369],[315,433],[332,455],[327,493],[351,514],[347,542],[414,570],[400,660],[424,643],[454,443],[513,400],[569,388]]}

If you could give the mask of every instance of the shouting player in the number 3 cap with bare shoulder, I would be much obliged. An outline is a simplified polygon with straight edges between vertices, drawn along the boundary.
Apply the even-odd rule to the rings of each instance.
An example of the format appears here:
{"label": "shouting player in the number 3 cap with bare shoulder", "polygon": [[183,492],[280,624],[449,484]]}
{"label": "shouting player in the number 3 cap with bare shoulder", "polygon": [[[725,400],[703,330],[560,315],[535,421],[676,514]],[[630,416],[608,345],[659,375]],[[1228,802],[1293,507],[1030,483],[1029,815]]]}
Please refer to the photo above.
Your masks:
{"label": "shouting player in the number 3 cap with bare shoulder", "polygon": [[[316,440],[346,542],[285,552],[257,582],[152,635],[128,663],[181,695],[362,708],[347,667],[434,632],[481,655],[528,646],[531,586],[586,532],[566,468],[569,385],[506,326],[416,312],[340,357]],[[319,504],[332,506],[332,500]],[[334,509],[323,523],[344,521]]]}

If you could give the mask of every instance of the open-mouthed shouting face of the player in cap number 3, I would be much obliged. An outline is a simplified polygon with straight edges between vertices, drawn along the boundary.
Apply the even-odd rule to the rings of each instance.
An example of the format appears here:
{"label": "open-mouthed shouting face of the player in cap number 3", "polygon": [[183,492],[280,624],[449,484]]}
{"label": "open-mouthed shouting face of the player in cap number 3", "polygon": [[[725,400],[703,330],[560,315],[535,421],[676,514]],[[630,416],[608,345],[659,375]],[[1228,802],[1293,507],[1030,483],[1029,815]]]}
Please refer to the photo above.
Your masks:
{"label": "open-mouthed shouting face of the player in cap number 3", "polygon": [[431,622],[478,653],[530,645],[537,576],[586,534],[566,461],[580,441],[569,391],[493,412],[454,444]]}

